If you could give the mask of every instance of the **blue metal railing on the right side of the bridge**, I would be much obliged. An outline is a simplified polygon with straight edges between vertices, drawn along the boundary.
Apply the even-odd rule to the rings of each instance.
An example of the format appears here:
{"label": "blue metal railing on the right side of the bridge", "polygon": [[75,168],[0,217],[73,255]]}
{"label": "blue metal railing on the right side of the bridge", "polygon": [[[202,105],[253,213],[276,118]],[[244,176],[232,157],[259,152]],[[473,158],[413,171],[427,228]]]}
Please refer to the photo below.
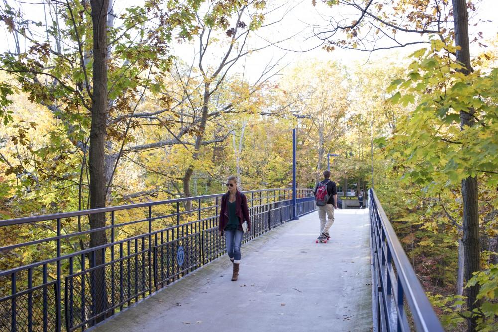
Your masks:
{"label": "blue metal railing on the right side of the bridge", "polygon": [[373,330],[411,331],[405,299],[418,332],[443,332],[373,189],[369,190]]}

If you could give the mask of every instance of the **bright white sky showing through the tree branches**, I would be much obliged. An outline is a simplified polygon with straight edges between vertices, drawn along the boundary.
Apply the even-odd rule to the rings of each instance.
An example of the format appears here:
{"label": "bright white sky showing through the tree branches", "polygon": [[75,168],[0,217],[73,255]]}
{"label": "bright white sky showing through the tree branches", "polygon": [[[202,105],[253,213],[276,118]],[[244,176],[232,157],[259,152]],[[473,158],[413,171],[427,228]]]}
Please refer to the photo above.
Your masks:
{"label": "bright white sky showing through the tree branches", "polygon": [[[12,0],[8,1],[12,3]],[[18,1],[17,1],[18,2]],[[37,1],[32,1],[35,3]],[[39,3],[42,3],[39,0]],[[279,21],[270,27],[262,28],[256,31],[249,41],[250,48],[259,48],[267,45],[268,42],[276,42],[287,39],[287,41],[279,43],[278,46],[271,46],[264,50],[247,56],[239,65],[233,68],[234,72],[244,71],[245,77],[250,79],[250,76],[258,77],[264,66],[270,59],[283,59],[279,62],[279,67],[289,65],[292,66],[298,62],[318,60],[335,60],[340,61],[345,66],[361,66],[362,64],[372,63],[375,61],[385,61],[387,58],[390,61],[402,61],[407,55],[411,54],[420,45],[406,47],[404,49],[364,52],[358,50],[342,50],[336,49],[333,52],[326,52],[320,47],[321,41],[313,37],[313,25],[323,25],[326,23],[327,16],[344,17],[347,12],[341,11],[340,7],[328,7],[322,1],[316,1],[317,5],[313,6],[311,0],[267,0],[269,9],[275,9],[266,17],[266,22]],[[124,8],[130,5],[140,4],[140,0],[115,0],[114,9],[119,14]],[[23,2],[23,11],[26,18],[33,20],[41,20],[41,6],[39,4],[29,4]],[[498,0],[478,0],[477,11],[470,17],[470,39],[477,35],[479,31],[483,33],[484,40],[496,36],[498,32],[498,19],[495,19],[498,12]],[[479,24],[477,24],[479,23]],[[477,24],[477,25],[475,25]],[[7,45],[12,44],[9,33],[5,30],[5,25],[1,24],[0,32],[0,52],[7,49]],[[223,36],[223,34],[221,35]],[[419,38],[419,36],[409,36],[408,38]],[[196,49],[188,43],[172,45],[173,52],[178,57],[192,61],[193,54]],[[308,51],[306,51],[308,50]],[[306,52],[304,52],[306,51]],[[471,56],[475,56],[480,52],[477,43],[471,45]],[[217,53],[213,53],[213,62],[216,63]]]}

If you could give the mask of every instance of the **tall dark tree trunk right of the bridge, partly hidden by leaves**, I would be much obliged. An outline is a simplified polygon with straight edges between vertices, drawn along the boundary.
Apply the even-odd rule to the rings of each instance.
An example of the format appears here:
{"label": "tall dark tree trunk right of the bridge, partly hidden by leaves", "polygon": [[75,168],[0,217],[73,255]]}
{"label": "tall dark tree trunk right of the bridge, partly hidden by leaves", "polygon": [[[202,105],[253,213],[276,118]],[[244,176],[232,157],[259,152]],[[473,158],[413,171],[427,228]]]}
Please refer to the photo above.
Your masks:
{"label": "tall dark tree trunk right of the bridge, partly hidden by leaves", "polygon": [[[463,64],[462,72],[472,72],[469,52],[469,14],[465,0],[453,0],[453,17],[455,26],[455,44],[460,47],[456,52],[457,61]],[[460,130],[472,126],[474,120],[472,109],[460,111]],[[474,272],[480,271],[479,263],[479,203],[477,190],[477,177],[468,177],[462,180],[463,199],[463,248],[464,248],[464,282],[472,278]],[[475,285],[466,289],[467,308],[474,310],[479,306],[477,294],[479,286]],[[468,332],[476,331],[476,318],[468,320]]]}

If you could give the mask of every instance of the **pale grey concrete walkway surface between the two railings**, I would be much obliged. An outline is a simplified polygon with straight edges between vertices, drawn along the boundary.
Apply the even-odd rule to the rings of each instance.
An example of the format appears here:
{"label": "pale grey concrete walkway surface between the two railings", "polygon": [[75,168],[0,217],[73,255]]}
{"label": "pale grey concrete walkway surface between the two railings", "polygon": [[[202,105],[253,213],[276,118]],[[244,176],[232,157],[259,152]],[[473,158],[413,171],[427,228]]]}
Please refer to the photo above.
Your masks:
{"label": "pale grey concrete walkway surface between the two railings", "polygon": [[335,217],[326,244],[303,216],[244,245],[238,281],[225,255],[93,331],[371,331],[368,210]]}

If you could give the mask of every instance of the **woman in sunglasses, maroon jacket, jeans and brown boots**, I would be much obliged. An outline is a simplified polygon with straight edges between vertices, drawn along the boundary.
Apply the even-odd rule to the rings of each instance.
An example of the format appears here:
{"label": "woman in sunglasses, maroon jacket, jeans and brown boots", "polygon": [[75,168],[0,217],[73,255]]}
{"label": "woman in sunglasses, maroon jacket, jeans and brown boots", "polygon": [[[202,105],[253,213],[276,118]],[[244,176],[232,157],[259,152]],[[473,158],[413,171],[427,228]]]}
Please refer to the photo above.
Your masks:
{"label": "woman in sunglasses, maroon jacket, jeans and brown boots", "polygon": [[227,187],[228,192],[221,198],[219,230],[221,236],[223,236],[223,232],[226,234],[225,242],[228,257],[234,264],[232,281],[236,281],[239,275],[239,264],[241,263],[241,243],[244,235],[243,223],[247,221],[247,231],[250,231],[251,222],[246,195],[237,190],[237,177],[229,176]]}

